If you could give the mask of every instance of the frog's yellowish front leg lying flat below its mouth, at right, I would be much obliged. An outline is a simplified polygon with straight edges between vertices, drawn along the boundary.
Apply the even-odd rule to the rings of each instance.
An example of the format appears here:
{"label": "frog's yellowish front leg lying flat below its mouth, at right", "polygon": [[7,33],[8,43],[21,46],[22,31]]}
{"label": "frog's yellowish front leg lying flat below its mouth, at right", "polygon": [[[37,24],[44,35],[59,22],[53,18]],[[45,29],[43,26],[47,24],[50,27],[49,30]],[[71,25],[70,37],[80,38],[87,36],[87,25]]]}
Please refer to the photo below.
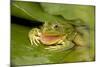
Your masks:
{"label": "frog's yellowish front leg lying flat below its mouth, at right", "polygon": [[49,51],[55,51],[55,50],[68,50],[70,48],[72,48],[74,46],[74,44],[70,41],[66,41],[66,42],[62,42],[60,44],[57,44],[55,46],[48,46],[47,50]]}

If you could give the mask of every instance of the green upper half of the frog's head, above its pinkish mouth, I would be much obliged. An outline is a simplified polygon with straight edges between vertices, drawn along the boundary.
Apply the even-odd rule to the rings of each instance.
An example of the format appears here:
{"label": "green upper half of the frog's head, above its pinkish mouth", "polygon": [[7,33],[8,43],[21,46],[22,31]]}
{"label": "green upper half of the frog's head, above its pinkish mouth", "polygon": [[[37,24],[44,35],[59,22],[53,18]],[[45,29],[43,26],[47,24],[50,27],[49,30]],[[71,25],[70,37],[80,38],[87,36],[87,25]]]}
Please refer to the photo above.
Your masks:
{"label": "green upper half of the frog's head, above its pinkish mouth", "polygon": [[45,22],[42,33],[47,35],[64,35],[63,26],[57,22]]}

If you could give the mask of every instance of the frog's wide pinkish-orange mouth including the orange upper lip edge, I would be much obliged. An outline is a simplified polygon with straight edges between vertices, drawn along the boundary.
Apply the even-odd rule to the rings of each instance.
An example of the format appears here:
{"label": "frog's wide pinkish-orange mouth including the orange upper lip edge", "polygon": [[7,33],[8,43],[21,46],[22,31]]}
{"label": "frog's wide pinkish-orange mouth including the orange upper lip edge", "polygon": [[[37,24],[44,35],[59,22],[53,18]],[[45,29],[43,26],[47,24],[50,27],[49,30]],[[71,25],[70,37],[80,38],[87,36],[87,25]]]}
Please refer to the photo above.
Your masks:
{"label": "frog's wide pinkish-orange mouth including the orange upper lip edge", "polygon": [[57,43],[57,42],[60,41],[62,38],[63,38],[63,36],[60,35],[60,34],[42,34],[42,35],[40,36],[40,41],[41,41],[43,44],[51,45],[51,44]]}

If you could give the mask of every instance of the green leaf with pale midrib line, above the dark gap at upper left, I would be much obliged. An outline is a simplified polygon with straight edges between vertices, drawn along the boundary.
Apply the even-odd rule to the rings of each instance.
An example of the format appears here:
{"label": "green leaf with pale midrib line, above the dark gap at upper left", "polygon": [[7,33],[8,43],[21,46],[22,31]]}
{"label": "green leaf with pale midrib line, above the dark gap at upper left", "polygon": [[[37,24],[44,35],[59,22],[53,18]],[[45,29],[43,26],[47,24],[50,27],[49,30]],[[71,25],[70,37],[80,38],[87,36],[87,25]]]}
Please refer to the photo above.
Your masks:
{"label": "green leaf with pale midrib line, above the dark gap at upper left", "polygon": [[11,14],[13,16],[25,18],[28,20],[37,20],[41,22],[55,21],[52,15],[43,12],[39,3],[14,1],[11,8]]}

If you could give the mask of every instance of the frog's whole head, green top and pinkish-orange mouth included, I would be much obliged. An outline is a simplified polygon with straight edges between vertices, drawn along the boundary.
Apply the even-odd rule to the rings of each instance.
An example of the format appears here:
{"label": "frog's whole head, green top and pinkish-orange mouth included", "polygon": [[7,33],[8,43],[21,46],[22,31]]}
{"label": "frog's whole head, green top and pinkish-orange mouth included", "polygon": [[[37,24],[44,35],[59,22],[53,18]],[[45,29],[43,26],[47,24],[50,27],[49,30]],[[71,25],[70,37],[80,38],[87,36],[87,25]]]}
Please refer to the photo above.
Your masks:
{"label": "frog's whole head, green top and pinkish-orange mouth included", "polygon": [[42,43],[51,45],[63,40],[66,37],[66,30],[69,30],[69,26],[58,22],[45,22],[42,27],[42,35],[40,40]]}

